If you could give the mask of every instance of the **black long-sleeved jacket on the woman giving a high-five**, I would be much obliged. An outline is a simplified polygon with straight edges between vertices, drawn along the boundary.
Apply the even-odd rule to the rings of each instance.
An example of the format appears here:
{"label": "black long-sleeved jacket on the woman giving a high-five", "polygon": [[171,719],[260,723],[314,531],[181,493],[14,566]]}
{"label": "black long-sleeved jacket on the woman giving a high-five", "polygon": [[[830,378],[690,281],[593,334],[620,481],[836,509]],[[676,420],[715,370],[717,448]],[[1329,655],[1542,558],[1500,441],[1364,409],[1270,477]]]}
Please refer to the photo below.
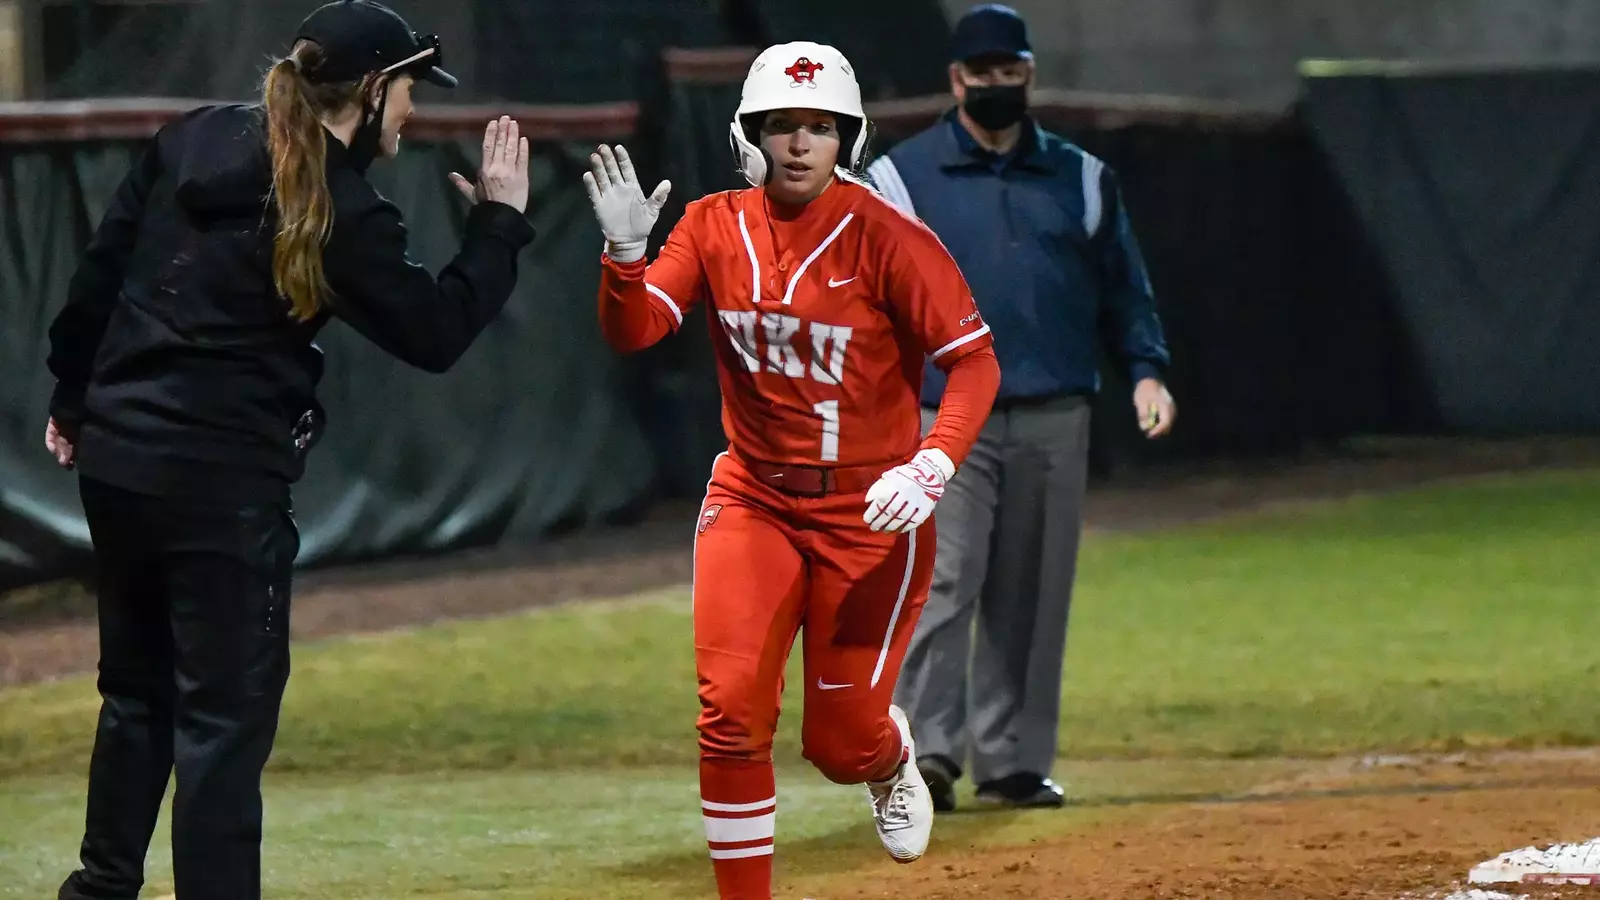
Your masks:
{"label": "black long-sleeved jacket on the woman giving a high-five", "polygon": [[78,428],[85,476],[154,495],[286,498],[320,437],[330,317],[445,372],[499,314],[533,226],[478,203],[435,280],[406,255],[400,211],[328,144],[326,309],[296,322],[272,282],[275,207],[259,106],[211,106],[162,128],[112,199],[50,328],[50,412]]}

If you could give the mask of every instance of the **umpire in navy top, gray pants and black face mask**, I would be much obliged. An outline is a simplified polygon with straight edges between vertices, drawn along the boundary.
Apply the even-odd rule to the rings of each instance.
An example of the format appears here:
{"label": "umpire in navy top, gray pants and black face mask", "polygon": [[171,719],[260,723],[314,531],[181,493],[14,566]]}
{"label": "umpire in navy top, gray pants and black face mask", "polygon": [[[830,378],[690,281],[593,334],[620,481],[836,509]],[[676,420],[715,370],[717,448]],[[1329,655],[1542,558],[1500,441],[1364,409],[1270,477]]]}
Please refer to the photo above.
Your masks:
{"label": "umpire in navy top, gray pants and black face mask", "polygon": [[[979,802],[1062,806],[1050,770],[1099,389],[1096,338],[1109,340],[1136,384],[1149,437],[1173,424],[1168,354],[1112,171],[1027,115],[1034,54],[1021,16],[973,8],[955,26],[952,56],[957,107],[867,175],[962,266],[994,330],[1002,381],[939,504],[933,591],[896,703],[910,716],[936,809],[955,807],[968,753]],[[930,367],[925,428],[941,391]]]}

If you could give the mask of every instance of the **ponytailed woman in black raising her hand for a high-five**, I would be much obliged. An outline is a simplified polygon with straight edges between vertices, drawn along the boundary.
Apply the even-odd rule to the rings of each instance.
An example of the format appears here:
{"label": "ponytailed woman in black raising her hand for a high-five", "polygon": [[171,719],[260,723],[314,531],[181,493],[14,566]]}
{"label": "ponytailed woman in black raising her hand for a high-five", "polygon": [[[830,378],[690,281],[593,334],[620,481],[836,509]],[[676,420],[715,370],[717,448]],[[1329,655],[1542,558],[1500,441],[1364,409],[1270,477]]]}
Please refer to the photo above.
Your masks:
{"label": "ponytailed woman in black raising her hand for a high-five", "polygon": [[261,773],[290,673],[290,485],[322,428],[317,331],[339,317],[445,372],[499,314],[533,240],[528,144],[490,123],[454,261],[406,255],[363,178],[398,149],[435,37],[339,0],[261,104],[163,128],[50,330],[46,445],[77,468],[99,573],[99,692],[82,868],[62,900],[133,898],[168,775],[179,900],[261,897]]}

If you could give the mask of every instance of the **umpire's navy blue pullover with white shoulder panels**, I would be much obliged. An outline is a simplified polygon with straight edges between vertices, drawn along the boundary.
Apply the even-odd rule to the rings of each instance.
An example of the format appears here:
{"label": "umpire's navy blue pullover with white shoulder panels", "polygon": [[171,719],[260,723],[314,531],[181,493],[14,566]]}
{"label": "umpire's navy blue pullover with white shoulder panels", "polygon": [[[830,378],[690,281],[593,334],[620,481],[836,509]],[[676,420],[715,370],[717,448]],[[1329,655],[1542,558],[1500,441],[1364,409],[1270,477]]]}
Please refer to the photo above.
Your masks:
{"label": "umpire's navy blue pullover with white shoulder panels", "polygon": [[[867,176],[962,267],[994,331],[997,404],[1098,392],[1101,338],[1134,383],[1163,376],[1155,296],[1106,163],[1032,119],[1010,154],[994,154],[952,109]],[[938,405],[944,375],[928,365],[923,384],[923,405]]]}

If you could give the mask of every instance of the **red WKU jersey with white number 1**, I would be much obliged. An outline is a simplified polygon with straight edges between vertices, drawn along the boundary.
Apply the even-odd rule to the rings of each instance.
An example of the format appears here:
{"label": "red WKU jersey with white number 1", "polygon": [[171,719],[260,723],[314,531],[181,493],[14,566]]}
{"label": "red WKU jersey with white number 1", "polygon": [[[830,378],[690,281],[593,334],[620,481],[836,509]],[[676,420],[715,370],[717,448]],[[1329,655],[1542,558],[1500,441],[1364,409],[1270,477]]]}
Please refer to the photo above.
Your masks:
{"label": "red WKU jersey with white number 1", "polygon": [[712,194],[688,205],[654,263],[603,258],[600,323],[619,351],[659,341],[699,303],[723,429],[755,460],[893,464],[928,445],[960,464],[989,407],[923,440],[923,360],[949,370],[982,354],[989,400],[998,386],[989,325],[949,251],[851,181],[792,211],[762,189]]}

